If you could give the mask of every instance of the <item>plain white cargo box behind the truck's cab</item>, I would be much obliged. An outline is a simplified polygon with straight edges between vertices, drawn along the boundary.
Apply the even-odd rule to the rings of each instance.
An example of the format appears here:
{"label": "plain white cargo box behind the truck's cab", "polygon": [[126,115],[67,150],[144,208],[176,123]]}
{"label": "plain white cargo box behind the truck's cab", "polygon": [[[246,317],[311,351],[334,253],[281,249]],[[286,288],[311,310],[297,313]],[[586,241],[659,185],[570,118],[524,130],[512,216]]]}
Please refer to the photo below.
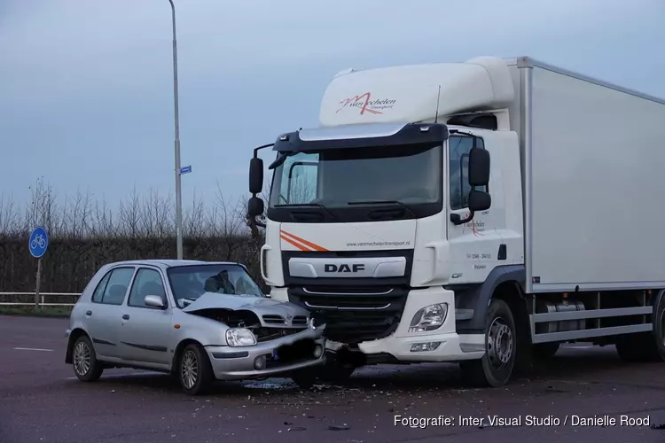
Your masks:
{"label": "plain white cargo box behind the truck's cab", "polygon": [[665,286],[665,101],[516,63],[528,291]]}

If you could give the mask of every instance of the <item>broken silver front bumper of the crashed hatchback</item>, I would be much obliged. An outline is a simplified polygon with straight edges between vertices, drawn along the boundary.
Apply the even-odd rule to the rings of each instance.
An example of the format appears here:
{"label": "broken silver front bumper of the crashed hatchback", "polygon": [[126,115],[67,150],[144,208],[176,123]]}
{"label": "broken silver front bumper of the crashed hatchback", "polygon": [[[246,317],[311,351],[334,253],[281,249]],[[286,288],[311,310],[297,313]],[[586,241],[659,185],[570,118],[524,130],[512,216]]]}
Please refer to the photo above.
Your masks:
{"label": "broken silver front bumper of the crashed hatchback", "polygon": [[325,361],[324,328],[309,328],[254,346],[206,346],[215,378],[271,377]]}

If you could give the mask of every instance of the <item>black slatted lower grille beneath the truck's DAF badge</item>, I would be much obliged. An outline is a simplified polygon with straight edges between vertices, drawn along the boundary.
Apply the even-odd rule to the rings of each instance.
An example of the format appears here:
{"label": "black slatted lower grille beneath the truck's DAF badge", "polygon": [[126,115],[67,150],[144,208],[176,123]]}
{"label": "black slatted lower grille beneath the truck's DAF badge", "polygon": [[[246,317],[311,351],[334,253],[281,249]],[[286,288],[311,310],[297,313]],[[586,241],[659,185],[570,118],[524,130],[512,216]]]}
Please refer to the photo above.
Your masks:
{"label": "black slatted lower grille beneath the truck's DAF badge", "polygon": [[400,286],[298,286],[289,299],[326,323],[333,341],[354,344],[392,334],[402,317],[408,289]]}

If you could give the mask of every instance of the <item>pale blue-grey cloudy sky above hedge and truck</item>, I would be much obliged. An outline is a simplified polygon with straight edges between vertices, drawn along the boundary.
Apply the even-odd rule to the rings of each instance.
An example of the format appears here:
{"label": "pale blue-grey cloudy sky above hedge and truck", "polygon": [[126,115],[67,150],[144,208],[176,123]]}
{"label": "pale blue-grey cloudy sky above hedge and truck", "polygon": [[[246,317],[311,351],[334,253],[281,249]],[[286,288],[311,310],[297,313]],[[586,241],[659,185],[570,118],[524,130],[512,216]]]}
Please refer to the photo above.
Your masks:
{"label": "pale blue-grey cloudy sky above hedge and truck", "polygon": [[[318,125],[343,69],[527,55],[665,97],[665,1],[174,0],[184,206]],[[0,194],[174,192],[168,0],[0,0]],[[266,150],[267,151],[267,150]],[[266,161],[274,155],[263,151]],[[268,177],[267,177],[268,178]]]}

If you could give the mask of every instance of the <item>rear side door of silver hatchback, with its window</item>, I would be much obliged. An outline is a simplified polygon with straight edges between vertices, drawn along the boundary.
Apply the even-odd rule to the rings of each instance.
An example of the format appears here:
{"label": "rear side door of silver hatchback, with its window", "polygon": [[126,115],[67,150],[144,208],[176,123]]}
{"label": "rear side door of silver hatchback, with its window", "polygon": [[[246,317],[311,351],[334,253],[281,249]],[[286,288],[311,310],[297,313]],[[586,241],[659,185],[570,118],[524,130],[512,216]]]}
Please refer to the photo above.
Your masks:
{"label": "rear side door of silver hatchback, with its window", "polygon": [[128,266],[109,270],[95,288],[86,308],[83,326],[101,360],[119,357],[122,302],[134,270]]}

